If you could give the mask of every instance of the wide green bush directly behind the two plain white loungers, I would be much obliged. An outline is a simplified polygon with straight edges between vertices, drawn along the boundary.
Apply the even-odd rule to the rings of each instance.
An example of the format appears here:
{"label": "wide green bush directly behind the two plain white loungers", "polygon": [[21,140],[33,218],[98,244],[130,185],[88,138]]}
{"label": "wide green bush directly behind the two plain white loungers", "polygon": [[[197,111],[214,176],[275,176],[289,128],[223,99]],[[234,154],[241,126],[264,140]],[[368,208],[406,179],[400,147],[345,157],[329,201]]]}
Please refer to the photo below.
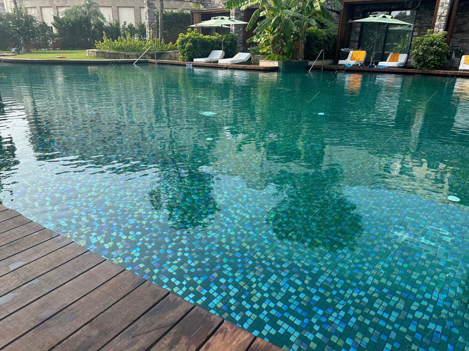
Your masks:
{"label": "wide green bush directly behind the two plain white loungers", "polygon": [[[188,29],[187,33],[179,34],[176,42],[181,61],[192,61],[199,57],[207,57],[212,50],[221,50],[221,35],[213,36],[200,34],[197,29]],[[225,57],[233,57],[236,51],[236,35],[233,33],[223,35],[223,51]]]}

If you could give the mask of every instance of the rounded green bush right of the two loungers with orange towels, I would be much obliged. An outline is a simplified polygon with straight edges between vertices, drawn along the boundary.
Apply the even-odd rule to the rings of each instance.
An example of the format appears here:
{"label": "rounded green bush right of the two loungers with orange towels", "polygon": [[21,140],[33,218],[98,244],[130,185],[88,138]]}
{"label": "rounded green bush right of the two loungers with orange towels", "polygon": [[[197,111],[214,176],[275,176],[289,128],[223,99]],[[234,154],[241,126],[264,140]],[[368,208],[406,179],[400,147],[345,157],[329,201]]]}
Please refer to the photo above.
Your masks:
{"label": "rounded green bush right of the two loungers with orange towels", "polygon": [[416,69],[438,69],[446,62],[449,46],[445,43],[447,32],[432,33],[431,29],[423,37],[414,40],[412,57]]}

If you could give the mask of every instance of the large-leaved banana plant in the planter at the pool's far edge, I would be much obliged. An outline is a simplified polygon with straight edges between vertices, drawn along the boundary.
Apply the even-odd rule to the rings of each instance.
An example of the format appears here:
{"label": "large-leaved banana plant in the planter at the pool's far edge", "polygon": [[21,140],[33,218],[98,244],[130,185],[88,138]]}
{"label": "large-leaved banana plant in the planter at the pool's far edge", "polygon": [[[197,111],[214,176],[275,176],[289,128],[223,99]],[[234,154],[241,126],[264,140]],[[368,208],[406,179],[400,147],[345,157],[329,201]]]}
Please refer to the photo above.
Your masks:
{"label": "large-leaved banana plant in the planter at the pool's far edge", "polygon": [[[277,55],[285,55],[288,58],[303,59],[306,31],[310,26],[317,26],[322,22],[327,26],[336,28],[333,17],[323,5],[325,0],[228,0],[225,2],[227,10],[241,7],[256,6],[247,30],[257,22],[260,16],[265,19],[257,23],[254,36],[247,42],[257,42],[263,46],[269,46],[270,52]],[[330,2],[342,8],[337,0]]]}

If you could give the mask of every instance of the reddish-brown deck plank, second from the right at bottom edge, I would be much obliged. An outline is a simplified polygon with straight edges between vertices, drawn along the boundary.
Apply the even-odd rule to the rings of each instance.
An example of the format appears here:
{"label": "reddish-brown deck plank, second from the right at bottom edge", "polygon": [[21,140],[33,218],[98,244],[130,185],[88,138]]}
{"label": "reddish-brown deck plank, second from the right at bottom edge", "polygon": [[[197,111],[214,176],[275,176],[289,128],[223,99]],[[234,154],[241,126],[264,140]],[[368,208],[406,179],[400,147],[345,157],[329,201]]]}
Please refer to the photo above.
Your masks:
{"label": "reddish-brown deck plank, second from the right at bottom edge", "polygon": [[250,332],[225,321],[200,351],[246,351],[255,338]]}

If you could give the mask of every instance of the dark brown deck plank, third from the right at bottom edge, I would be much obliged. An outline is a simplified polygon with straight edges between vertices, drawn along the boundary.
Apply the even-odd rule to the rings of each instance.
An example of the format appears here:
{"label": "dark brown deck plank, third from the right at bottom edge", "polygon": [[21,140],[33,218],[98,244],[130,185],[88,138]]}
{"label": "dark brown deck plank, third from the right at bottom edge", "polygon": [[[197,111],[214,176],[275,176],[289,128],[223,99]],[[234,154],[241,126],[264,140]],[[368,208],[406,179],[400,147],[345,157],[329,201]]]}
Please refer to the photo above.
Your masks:
{"label": "dark brown deck plank, third from the right at bottom edge", "polygon": [[205,344],[223,319],[201,307],[194,307],[181,322],[177,323],[151,351],[185,350],[197,351]]}

